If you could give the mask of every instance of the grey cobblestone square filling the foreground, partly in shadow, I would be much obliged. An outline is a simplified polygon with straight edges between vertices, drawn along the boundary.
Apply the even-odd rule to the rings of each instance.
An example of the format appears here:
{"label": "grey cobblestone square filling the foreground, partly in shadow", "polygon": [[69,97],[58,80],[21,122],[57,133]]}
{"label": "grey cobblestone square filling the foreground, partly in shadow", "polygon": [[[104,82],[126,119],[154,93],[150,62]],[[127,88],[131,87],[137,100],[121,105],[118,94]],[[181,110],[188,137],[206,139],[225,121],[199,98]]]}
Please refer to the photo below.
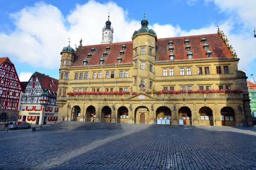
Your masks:
{"label": "grey cobblestone square filling the foreground, partly in shadow", "polygon": [[0,132],[0,170],[256,170],[255,127]]}

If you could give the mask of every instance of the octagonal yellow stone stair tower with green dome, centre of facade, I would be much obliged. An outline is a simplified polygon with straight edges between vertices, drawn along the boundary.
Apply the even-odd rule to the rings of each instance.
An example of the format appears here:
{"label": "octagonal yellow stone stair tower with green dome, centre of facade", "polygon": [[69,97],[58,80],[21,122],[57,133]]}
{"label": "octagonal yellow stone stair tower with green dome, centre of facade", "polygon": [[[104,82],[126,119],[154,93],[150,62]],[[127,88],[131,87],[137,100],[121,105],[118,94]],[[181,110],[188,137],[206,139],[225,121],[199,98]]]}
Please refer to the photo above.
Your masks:
{"label": "octagonal yellow stone stair tower with green dome, centre of facade", "polygon": [[[145,15],[145,14],[144,14]],[[133,89],[137,91],[147,91],[154,86],[154,64],[157,34],[148,28],[148,20],[141,21],[141,28],[134,31],[133,41]]]}

